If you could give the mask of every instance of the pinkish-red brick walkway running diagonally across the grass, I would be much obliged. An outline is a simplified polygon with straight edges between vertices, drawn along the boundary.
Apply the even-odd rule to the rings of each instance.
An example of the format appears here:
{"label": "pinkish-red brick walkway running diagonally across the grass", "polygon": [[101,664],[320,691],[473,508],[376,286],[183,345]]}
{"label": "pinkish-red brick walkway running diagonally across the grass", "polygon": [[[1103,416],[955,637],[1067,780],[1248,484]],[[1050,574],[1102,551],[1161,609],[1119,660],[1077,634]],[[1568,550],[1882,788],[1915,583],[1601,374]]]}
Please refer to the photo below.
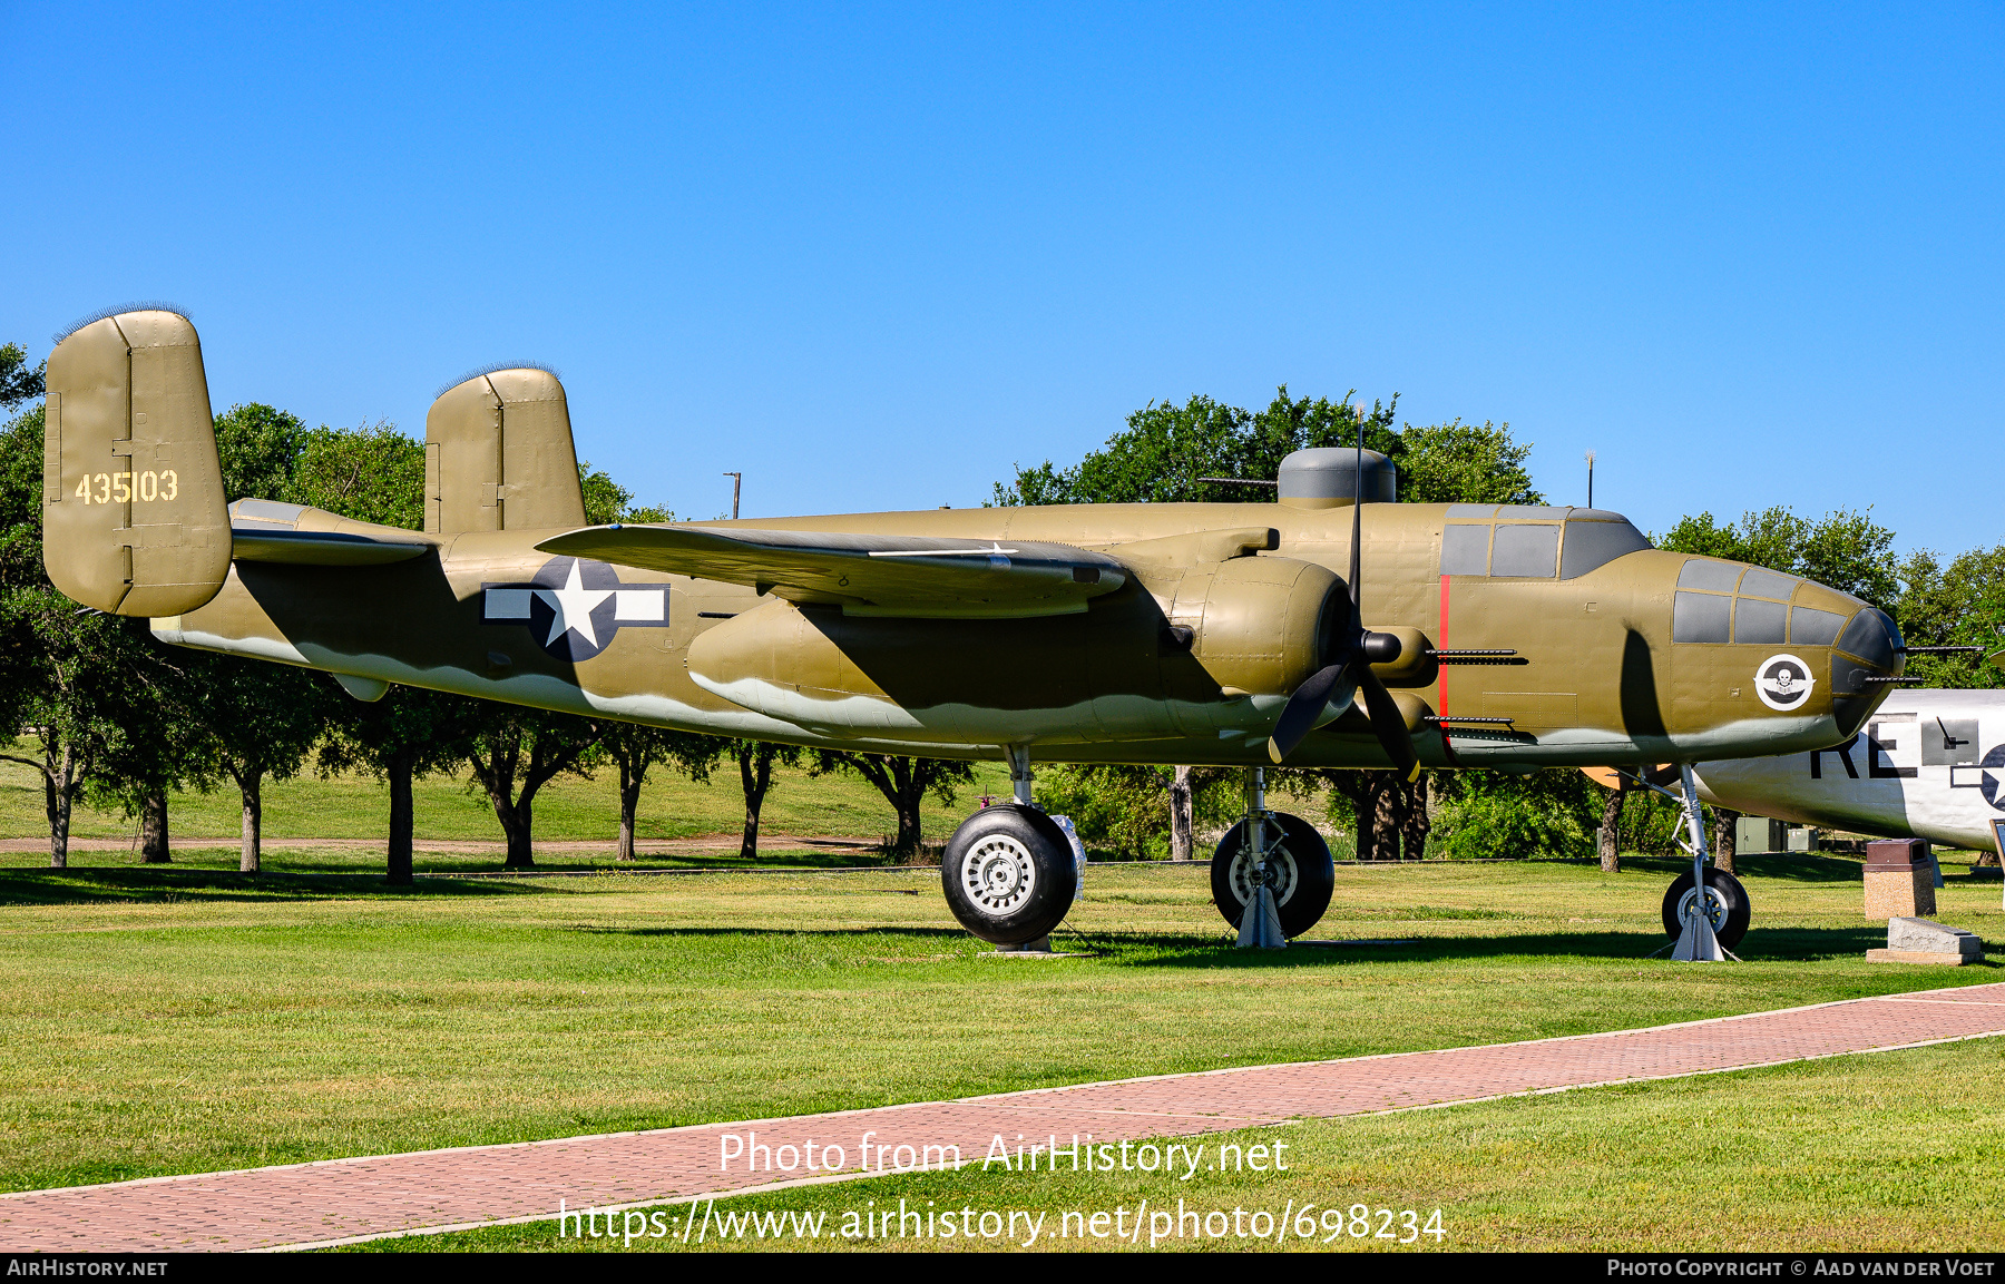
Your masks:
{"label": "pinkish-red brick walkway running diagonally across the grass", "polygon": [[[2005,1034],[2005,984],[1931,990],[1815,1008],[1526,1044],[1404,1052],[1341,1062],[1251,1066],[960,1102],[700,1124],[513,1146],[323,1160],[0,1196],[12,1252],[245,1250],[547,1218],[569,1208],[688,1200],[798,1184],[782,1146],[844,1148],[850,1168],[910,1162],[898,1146],[960,1146],[978,1160],[1002,1134],[1069,1142],[1193,1136],[1297,1116],[1343,1116],[1508,1094],[1772,1066]],[[720,1172],[722,1134],[752,1134],[794,1172]],[[760,1156],[764,1158],[764,1156]]]}

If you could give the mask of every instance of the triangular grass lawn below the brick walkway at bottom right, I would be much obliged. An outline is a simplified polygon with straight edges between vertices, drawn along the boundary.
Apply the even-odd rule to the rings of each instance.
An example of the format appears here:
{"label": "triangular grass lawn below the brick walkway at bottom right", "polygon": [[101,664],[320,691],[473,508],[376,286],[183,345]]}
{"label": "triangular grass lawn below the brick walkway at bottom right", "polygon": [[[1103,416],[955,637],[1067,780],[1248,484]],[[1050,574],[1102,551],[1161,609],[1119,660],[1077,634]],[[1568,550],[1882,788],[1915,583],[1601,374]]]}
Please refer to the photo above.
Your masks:
{"label": "triangular grass lawn below the brick walkway at bottom right", "polygon": [[[1798,1062],[1620,1088],[1472,1102],[1440,1110],[1303,1120],[1203,1138],[1201,1162],[1161,1172],[960,1172],[872,1178],[718,1200],[698,1214],[702,1244],[680,1242],[688,1208],[664,1208],[670,1234],[622,1240],[561,1236],[555,1222],[377,1240],[361,1252],[569,1250],[938,1250],[1005,1246],[1002,1234],[920,1238],[872,1228],[872,1212],[1023,1212],[1015,1246],[1127,1248],[1095,1238],[1081,1216],[1143,1208],[1159,1250],[1556,1250],[1556,1252],[1997,1252],[2005,1198],[1993,1176],[2005,1154],[2005,1106],[1989,1086],[2005,1074],[2005,1042]],[[1065,1138],[1061,1138],[1063,1142]],[[1219,1146],[1285,1140],[1289,1172],[1227,1166]],[[1189,1172],[1185,1180],[1181,1172]],[[1179,1200],[1183,1236],[1175,1234]],[[1357,1206],[1367,1212],[1359,1220]],[[1307,1222],[1303,1216],[1307,1206]],[[1389,1212],[1391,1216],[1381,1214]],[[1399,1216],[1414,1212],[1414,1222]],[[1440,1222],[1434,1212],[1440,1210]],[[710,1216],[702,1216],[708,1212]],[[718,1236],[746,1214],[822,1214],[822,1234]],[[1239,1212],[1235,1234],[1233,1212]],[[1255,1240],[1255,1216],[1289,1232]],[[852,1218],[852,1214],[858,1214]],[[1031,1216],[1043,1214],[1033,1242]],[[1147,1216],[1147,1214],[1145,1214]],[[1440,1236],[1422,1234],[1434,1224]],[[599,1224],[604,1228],[604,1222]],[[814,1226],[814,1222],[810,1222]],[[854,1238],[844,1236],[844,1226]],[[934,1224],[938,1230],[938,1222]],[[1103,1224],[1115,1228],[1121,1222]],[[1209,1230],[1207,1230],[1209,1228]],[[1307,1228],[1307,1240],[1299,1232]],[[577,1230],[573,1226],[573,1230]],[[1223,1232],[1223,1234],[1219,1234]],[[1379,1236],[1385,1238],[1379,1238]],[[1410,1240],[1401,1244],[1401,1240]],[[1149,1234],[1143,1234],[1149,1242]]]}

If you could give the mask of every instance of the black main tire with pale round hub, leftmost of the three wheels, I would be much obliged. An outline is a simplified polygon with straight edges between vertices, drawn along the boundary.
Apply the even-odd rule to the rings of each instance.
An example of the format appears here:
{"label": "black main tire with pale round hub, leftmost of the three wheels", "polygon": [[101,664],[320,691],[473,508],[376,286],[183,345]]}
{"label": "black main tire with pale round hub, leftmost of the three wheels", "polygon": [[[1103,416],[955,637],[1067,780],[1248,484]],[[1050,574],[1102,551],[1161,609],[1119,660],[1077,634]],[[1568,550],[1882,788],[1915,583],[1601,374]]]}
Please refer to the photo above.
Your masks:
{"label": "black main tire with pale round hub, leftmost of the three wheels", "polygon": [[940,853],[946,907],[994,945],[1023,945],[1065,921],[1079,893],[1073,843],[1049,815],[1021,803],[982,807]]}

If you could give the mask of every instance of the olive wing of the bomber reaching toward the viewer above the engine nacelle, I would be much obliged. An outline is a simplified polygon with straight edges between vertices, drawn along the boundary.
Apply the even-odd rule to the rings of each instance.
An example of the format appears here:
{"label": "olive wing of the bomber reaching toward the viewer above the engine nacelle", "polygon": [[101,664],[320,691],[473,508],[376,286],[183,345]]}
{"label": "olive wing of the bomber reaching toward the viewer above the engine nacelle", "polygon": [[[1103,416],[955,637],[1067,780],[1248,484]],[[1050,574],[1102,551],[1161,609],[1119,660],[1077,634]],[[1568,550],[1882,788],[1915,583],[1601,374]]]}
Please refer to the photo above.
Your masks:
{"label": "olive wing of the bomber reaching toward the viewer above the engine nacelle", "polygon": [[1073,615],[1127,583],[1105,553],[1029,541],[750,527],[587,527],[535,545],[624,567],[722,579],[848,615]]}

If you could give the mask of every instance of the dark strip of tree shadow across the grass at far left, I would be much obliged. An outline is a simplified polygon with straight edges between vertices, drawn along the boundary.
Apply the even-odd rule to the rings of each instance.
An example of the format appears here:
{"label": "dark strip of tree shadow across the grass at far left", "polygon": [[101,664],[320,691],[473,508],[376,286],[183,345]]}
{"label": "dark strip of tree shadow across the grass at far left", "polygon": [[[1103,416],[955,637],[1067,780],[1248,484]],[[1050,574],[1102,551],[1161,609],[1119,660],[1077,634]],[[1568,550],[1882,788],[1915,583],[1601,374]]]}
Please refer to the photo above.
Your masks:
{"label": "dark strip of tree shadow across the grass at far left", "polygon": [[0,905],[287,901],[355,897],[467,899],[533,893],[531,883],[489,879],[419,879],[393,887],[379,871],[297,873],[269,869],[82,867],[0,869]]}

